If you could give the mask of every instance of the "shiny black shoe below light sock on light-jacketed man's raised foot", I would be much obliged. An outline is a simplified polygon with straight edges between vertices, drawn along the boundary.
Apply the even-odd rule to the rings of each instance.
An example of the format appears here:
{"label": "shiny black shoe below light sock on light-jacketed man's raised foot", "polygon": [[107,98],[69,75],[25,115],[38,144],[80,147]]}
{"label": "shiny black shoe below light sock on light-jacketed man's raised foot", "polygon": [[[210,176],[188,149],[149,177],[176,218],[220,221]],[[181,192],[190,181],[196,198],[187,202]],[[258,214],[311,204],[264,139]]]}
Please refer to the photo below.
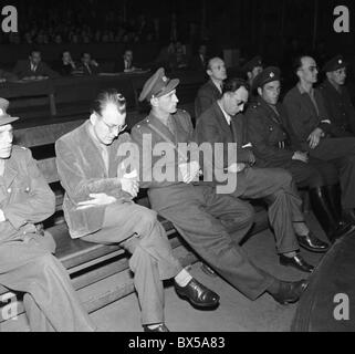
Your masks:
{"label": "shiny black shoe below light sock on light-jacketed man's raised foot", "polygon": [[196,308],[216,308],[219,303],[219,295],[196,279],[191,279],[186,287],[179,287],[175,282],[175,290],[180,298],[188,300]]}

